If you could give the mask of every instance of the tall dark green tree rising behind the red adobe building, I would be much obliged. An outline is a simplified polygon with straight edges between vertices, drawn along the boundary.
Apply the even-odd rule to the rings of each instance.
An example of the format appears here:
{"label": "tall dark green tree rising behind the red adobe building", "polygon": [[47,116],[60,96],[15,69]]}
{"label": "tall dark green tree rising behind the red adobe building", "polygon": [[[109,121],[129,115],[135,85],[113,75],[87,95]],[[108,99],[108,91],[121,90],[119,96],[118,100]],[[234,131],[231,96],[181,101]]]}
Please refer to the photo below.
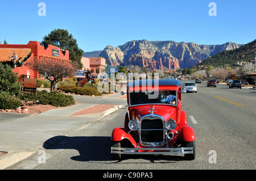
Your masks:
{"label": "tall dark green tree rising behind the red adobe building", "polygon": [[79,68],[82,68],[81,58],[84,51],[78,47],[76,39],[67,30],[55,29],[51,31],[47,36],[43,37],[43,41],[40,44],[44,47],[48,47],[50,44],[63,50],[68,50],[69,60],[77,62]]}

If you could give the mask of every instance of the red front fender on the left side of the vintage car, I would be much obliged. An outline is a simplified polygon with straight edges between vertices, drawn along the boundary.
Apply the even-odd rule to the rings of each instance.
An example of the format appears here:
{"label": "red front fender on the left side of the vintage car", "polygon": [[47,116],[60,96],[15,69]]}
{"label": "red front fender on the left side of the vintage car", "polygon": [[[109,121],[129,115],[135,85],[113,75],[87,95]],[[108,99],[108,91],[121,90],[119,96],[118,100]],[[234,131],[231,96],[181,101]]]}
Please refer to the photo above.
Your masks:
{"label": "red front fender on the left side of the vintage car", "polygon": [[115,128],[113,129],[111,140],[112,141],[122,141],[123,139],[127,139],[133,144],[134,148],[136,148],[136,141],[134,140],[131,134],[128,134],[125,131],[125,128]]}

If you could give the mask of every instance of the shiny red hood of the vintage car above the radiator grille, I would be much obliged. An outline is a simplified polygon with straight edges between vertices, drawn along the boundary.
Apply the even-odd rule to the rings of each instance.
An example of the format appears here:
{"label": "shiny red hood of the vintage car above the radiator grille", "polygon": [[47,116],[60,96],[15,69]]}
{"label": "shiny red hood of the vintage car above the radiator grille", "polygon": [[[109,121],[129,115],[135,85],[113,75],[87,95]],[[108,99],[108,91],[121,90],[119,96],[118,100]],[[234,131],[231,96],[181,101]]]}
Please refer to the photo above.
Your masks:
{"label": "shiny red hood of the vintage car above the radiator grille", "polygon": [[[151,113],[152,105],[135,106],[130,108],[130,120],[131,119],[141,119],[142,116]],[[168,119],[176,119],[176,109],[175,107],[168,105],[154,105],[154,110],[152,110],[155,115],[162,116],[165,121]]]}

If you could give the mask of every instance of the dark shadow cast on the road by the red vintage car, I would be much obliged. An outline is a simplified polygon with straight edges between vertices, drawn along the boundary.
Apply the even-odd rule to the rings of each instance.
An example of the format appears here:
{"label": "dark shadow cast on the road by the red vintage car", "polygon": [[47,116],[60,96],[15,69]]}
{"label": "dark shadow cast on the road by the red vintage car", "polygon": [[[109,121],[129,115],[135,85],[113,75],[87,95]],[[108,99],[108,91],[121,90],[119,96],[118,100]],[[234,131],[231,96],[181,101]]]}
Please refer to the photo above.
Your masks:
{"label": "dark shadow cast on the road by the red vintage car", "polygon": [[[111,137],[106,136],[55,136],[44,142],[43,148],[75,149],[80,154],[71,157],[75,161],[112,161],[110,154]],[[125,155],[122,158],[123,161],[127,159],[144,159],[151,163],[184,161],[184,157],[179,155]],[[115,163],[121,162],[115,161]]]}

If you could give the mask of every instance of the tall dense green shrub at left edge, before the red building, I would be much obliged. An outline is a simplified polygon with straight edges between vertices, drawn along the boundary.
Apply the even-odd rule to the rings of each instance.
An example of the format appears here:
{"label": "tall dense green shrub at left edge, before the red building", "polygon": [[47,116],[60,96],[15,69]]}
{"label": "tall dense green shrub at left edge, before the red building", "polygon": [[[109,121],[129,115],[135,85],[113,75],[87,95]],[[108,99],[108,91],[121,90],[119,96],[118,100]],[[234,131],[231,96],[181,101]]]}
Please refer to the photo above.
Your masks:
{"label": "tall dense green shrub at left edge, before the red building", "polygon": [[18,83],[17,74],[9,65],[0,62],[0,94],[7,92],[9,95],[20,95],[21,83]]}

